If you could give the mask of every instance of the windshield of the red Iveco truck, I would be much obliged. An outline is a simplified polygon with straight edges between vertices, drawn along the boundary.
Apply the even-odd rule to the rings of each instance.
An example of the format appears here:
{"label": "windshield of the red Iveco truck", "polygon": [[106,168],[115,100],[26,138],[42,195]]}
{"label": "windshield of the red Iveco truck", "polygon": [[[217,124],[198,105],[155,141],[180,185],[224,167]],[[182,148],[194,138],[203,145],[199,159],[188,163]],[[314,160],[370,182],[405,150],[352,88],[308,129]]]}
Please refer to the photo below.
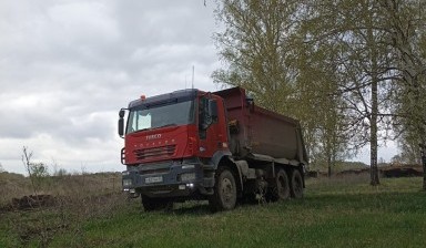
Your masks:
{"label": "windshield of the red Iveco truck", "polygon": [[191,123],[195,123],[194,101],[151,106],[149,108],[135,107],[130,111],[126,133]]}

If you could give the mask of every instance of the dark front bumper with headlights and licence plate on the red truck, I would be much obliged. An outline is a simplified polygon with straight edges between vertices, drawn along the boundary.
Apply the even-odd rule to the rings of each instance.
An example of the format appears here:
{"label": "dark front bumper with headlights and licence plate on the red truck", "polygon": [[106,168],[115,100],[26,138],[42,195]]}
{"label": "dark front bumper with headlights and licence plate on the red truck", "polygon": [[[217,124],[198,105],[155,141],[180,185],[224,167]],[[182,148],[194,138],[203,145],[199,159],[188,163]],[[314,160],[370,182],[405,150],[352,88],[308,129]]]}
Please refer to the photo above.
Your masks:
{"label": "dark front bumper with headlights and licence plate on the red truck", "polygon": [[[162,162],[128,166],[122,173],[123,190],[132,196],[184,197],[210,195],[214,177],[197,162]],[[213,175],[213,173],[211,174]]]}

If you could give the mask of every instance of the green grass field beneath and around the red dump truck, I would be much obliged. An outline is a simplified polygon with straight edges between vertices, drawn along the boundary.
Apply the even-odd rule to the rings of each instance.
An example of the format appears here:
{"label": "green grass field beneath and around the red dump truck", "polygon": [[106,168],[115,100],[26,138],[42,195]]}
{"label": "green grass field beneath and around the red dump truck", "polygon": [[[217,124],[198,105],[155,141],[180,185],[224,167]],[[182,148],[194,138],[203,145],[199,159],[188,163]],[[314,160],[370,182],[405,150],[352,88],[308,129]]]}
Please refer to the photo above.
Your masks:
{"label": "green grass field beneath and around the red dump truck", "polygon": [[0,247],[426,247],[422,178],[308,179],[305,198],[211,214],[206,203],[144,213],[120,194],[0,214]]}

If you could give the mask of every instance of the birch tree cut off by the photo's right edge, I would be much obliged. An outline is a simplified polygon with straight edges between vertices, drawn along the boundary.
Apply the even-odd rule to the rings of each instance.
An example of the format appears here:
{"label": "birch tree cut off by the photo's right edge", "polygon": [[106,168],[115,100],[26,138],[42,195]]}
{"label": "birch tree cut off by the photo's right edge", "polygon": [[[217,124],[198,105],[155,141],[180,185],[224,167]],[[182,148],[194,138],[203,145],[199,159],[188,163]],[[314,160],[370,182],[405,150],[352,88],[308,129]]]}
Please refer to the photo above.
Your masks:
{"label": "birch tree cut off by the photo's right edge", "polygon": [[[389,17],[386,31],[396,54],[394,80],[395,124],[402,133],[405,152],[419,144],[426,190],[426,17],[424,0],[383,0],[382,8]],[[417,153],[418,154],[418,153]]]}

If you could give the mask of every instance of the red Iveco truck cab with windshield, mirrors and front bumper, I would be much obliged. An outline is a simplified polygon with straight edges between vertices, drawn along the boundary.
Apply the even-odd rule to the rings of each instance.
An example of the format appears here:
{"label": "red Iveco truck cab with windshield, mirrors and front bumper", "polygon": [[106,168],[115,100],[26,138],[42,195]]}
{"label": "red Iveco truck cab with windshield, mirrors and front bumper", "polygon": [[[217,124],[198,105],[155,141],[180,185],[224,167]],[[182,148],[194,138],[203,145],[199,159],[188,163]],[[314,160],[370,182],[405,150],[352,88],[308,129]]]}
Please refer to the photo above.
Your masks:
{"label": "red Iveco truck cab with windshield, mirrors and front bumper", "polygon": [[[123,189],[143,202],[179,200],[212,194],[210,158],[230,155],[223,100],[199,90],[150,99],[141,96],[120,112],[124,137]],[[162,198],[163,200],[159,200]]]}

